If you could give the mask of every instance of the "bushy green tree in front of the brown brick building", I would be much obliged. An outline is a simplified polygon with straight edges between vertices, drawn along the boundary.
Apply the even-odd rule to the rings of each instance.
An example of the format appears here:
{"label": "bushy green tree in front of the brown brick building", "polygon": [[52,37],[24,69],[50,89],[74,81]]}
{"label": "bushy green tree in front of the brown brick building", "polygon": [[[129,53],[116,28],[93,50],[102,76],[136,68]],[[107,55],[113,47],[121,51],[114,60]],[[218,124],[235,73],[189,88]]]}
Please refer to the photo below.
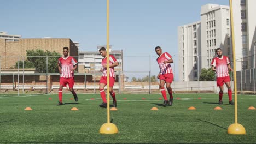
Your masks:
{"label": "bushy green tree in front of the brown brick building", "polygon": [[[48,56],[48,73],[59,73],[57,62],[61,56],[60,53],[40,49],[27,50],[26,52],[27,59],[24,61],[24,68],[35,68],[39,73],[46,73],[46,56]],[[20,61],[20,68],[22,67],[23,62]],[[18,62],[16,62],[15,68],[18,68]]]}

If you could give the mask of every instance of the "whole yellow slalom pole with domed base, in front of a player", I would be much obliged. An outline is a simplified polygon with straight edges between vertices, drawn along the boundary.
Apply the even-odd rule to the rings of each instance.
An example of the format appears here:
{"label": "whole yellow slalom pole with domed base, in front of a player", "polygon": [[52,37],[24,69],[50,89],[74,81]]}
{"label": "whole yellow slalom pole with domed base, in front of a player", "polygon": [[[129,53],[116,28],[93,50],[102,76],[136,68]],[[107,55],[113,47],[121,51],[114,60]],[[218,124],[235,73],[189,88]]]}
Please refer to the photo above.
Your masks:
{"label": "whole yellow slalom pole with domed base, in front of a player", "polygon": [[117,126],[110,123],[109,110],[109,0],[107,0],[107,103],[107,123],[101,125],[100,134],[117,134]]}

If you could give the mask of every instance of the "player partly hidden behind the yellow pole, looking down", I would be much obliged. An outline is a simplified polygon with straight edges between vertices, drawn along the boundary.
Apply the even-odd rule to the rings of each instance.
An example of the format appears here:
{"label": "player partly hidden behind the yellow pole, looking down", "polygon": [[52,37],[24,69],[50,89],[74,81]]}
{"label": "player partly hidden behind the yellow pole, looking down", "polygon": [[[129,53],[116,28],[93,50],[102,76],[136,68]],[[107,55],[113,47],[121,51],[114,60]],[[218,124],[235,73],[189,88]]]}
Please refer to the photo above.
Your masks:
{"label": "player partly hidden behind the yellow pole, looking down", "polygon": [[[103,103],[100,104],[100,107],[107,107],[107,100],[106,100],[106,94],[104,91],[104,87],[107,85],[107,51],[105,47],[101,47],[100,50],[98,50],[103,57],[102,59],[102,76],[100,80],[100,94],[101,98],[103,100]],[[117,107],[117,100],[115,99],[115,92],[113,91],[113,86],[115,83],[115,71],[114,67],[118,66],[118,61],[115,59],[113,55],[109,55],[109,93],[113,98],[113,107]]]}

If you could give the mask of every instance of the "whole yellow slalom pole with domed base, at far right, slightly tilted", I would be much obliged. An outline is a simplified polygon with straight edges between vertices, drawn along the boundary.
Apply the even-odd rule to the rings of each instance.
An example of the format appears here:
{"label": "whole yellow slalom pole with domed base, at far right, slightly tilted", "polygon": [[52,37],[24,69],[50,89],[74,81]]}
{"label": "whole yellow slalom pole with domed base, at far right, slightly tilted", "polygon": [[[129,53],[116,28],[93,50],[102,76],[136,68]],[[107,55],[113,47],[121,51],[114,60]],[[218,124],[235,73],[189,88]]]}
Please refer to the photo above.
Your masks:
{"label": "whole yellow slalom pole with domed base, at far right, slightly tilted", "polygon": [[232,47],[233,47],[233,64],[234,64],[234,93],[235,93],[235,123],[229,125],[228,134],[234,135],[245,135],[246,130],[243,125],[237,123],[237,88],[236,88],[236,49],[235,49],[235,33],[234,33],[234,19],[233,19],[233,7],[232,0],[229,0],[230,6],[230,24],[231,24],[231,35],[232,35]]}

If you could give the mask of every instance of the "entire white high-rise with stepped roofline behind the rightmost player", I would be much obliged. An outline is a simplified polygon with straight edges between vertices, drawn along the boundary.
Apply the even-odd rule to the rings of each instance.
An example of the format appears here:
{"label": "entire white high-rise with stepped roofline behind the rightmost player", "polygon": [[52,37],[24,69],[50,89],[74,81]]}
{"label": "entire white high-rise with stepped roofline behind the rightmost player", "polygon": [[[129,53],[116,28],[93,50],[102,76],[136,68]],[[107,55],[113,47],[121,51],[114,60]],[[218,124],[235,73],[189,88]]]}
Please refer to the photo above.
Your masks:
{"label": "entire white high-rise with stepped roofline behind the rightmost player", "polygon": [[179,80],[199,80],[200,70],[210,68],[218,47],[223,55],[230,57],[230,33],[229,6],[226,5],[202,5],[201,21],[178,27],[178,49],[182,57]]}

